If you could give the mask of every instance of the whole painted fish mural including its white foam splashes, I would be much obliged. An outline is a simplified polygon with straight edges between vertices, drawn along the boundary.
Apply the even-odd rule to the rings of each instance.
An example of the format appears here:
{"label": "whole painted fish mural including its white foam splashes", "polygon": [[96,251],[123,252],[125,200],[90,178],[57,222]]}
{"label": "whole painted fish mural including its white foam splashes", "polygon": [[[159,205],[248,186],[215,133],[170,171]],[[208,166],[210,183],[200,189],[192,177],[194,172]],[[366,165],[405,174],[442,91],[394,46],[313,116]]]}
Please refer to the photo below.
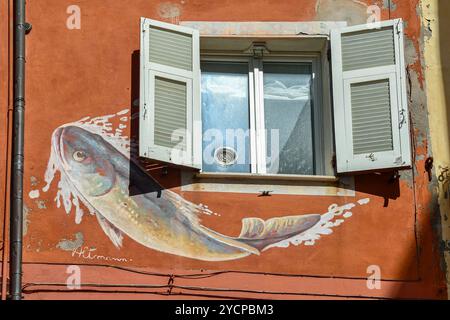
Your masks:
{"label": "whole painted fish mural including its white foam splashes", "polygon": [[[51,154],[45,175],[47,192],[60,172],[57,206],[70,213],[75,207],[81,222],[83,204],[112,243],[120,248],[126,234],[138,243],[161,252],[204,261],[227,261],[259,255],[272,247],[289,244],[313,245],[321,235],[348,218],[355,204],[331,205],[325,214],[245,218],[239,237],[220,234],[201,224],[201,214],[211,214],[203,205],[187,201],[164,189],[133,159],[130,139],[122,136],[121,124],[111,133],[109,120],[128,110],[98,118],[86,117],[57,128],[52,135]],[[133,177],[130,179],[130,177]],[[358,201],[366,204],[369,199]]]}

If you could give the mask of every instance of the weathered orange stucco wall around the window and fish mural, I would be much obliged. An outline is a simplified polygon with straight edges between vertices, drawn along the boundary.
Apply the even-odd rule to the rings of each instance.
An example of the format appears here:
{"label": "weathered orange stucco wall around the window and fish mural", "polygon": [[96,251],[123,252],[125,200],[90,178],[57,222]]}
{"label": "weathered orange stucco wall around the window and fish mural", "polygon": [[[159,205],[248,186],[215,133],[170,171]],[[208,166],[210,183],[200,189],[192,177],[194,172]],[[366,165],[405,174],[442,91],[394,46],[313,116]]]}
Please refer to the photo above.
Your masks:
{"label": "weathered orange stucco wall around the window and fish mural", "polygon": [[[8,198],[9,62],[12,43],[8,0],[0,2],[0,197]],[[220,215],[205,216],[205,226],[238,235],[248,216],[269,219],[284,215],[326,213],[332,204],[354,203],[352,216],[323,235],[312,246],[272,248],[261,255],[229,262],[205,262],[165,254],[125,237],[117,249],[105,236],[95,216],[85,213],[80,224],[74,212],[57,208],[56,184],[48,192],[44,174],[55,128],[86,116],[115,114],[133,109],[138,97],[139,18],[180,21],[348,21],[366,20],[366,7],[382,8],[382,18],[406,21],[406,57],[410,109],[414,131],[414,168],[401,172],[398,181],[389,174],[355,177],[355,196],[273,195],[184,192],[180,170],[151,170],[162,185],[193,203],[202,203]],[[418,0],[387,1],[286,0],[286,1],[28,1],[26,157],[25,157],[25,299],[42,298],[157,298],[160,294],[184,297],[270,298],[446,298],[445,270],[439,250],[439,213],[432,183],[425,171],[429,150],[426,98],[423,91],[422,24]],[[69,5],[81,8],[81,29],[68,30]],[[137,68],[137,69],[136,69]],[[132,126],[131,126],[132,127]],[[130,132],[133,135],[135,132]],[[38,197],[29,192],[40,190]],[[358,200],[369,199],[367,204]],[[0,200],[0,218],[7,230],[7,201]],[[7,248],[4,230],[2,250]],[[78,235],[78,238],[77,238]],[[64,244],[81,243],[84,252]],[[92,255],[87,252],[91,251]],[[94,257],[94,254],[97,257]],[[99,258],[98,255],[101,257]],[[3,254],[3,261],[7,258]],[[3,264],[5,265],[5,264]],[[147,284],[148,295],[122,287],[122,293],[65,290],[67,265],[80,265],[83,283]],[[381,268],[382,286],[366,286],[367,268]],[[141,271],[136,273],[136,271]],[[192,276],[204,274],[207,277]],[[181,276],[185,275],[185,276]],[[191,275],[191,276],[186,276]],[[44,286],[38,283],[61,283]],[[35,285],[31,285],[31,284]],[[167,284],[170,284],[167,286]],[[153,287],[156,286],[156,287]],[[209,289],[200,289],[209,288]],[[92,288],[90,288],[92,289]],[[117,288],[116,288],[117,289]],[[216,291],[216,289],[236,289]],[[64,291],[61,295],[58,290]],[[112,289],[111,289],[112,290]],[[105,289],[105,291],[108,291]],[[258,293],[265,291],[266,294]]]}

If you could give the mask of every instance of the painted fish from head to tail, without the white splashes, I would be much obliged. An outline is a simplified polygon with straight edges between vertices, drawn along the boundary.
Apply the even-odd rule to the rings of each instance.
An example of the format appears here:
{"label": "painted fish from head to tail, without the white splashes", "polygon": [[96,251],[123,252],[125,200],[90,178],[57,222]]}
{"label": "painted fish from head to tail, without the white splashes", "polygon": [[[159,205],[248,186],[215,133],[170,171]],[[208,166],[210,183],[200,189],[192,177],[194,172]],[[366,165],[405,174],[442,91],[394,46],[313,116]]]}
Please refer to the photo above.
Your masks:
{"label": "painted fish from head to tail, without the white splashes", "polygon": [[[62,173],[117,246],[125,233],[158,251],[206,261],[233,260],[259,255],[320,220],[318,214],[267,221],[246,218],[240,236],[228,237],[201,225],[197,206],[164,190],[100,135],[76,126],[61,127],[53,133],[52,148]],[[136,177],[133,185],[130,175]]]}

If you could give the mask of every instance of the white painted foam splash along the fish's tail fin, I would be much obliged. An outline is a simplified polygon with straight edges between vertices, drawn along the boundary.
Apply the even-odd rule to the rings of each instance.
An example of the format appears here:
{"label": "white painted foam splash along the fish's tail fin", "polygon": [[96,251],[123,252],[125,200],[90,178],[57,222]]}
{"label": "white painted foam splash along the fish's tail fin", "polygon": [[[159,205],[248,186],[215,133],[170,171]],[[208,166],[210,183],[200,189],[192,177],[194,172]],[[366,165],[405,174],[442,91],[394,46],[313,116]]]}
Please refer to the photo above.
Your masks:
{"label": "white painted foam splash along the fish's tail fin", "polygon": [[[361,199],[358,200],[359,205],[365,205],[369,203],[370,199]],[[279,248],[287,248],[291,244],[312,246],[316,244],[316,241],[319,240],[323,235],[329,235],[333,233],[333,228],[341,225],[345,219],[348,219],[353,216],[353,213],[350,212],[352,208],[356,205],[354,203],[347,203],[342,206],[338,206],[337,204],[332,204],[328,208],[328,212],[324,213],[320,217],[320,221],[312,228],[306,230],[305,232],[296,235],[290,239],[283,240],[281,242],[277,242],[265,250],[273,247]]]}

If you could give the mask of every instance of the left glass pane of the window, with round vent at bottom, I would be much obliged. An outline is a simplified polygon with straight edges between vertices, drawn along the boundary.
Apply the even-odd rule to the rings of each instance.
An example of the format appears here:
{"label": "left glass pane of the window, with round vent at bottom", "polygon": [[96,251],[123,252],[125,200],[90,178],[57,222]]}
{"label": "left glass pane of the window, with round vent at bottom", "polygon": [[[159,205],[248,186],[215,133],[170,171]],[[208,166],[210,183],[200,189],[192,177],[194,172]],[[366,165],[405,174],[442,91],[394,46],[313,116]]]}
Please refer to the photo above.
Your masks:
{"label": "left glass pane of the window, with round vent at bottom", "polygon": [[202,63],[203,171],[250,172],[248,64]]}

